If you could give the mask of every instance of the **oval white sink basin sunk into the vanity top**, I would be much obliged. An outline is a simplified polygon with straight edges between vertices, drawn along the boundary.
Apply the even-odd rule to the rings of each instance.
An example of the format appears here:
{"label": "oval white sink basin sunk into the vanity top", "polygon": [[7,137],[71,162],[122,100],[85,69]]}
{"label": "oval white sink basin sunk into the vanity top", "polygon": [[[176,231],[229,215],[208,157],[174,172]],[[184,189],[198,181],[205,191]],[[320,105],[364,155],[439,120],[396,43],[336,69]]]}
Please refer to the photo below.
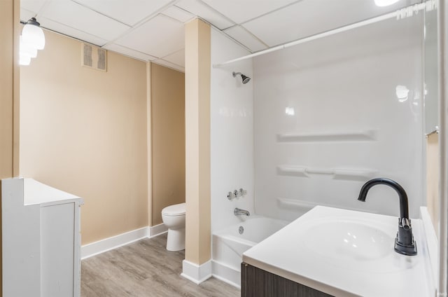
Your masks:
{"label": "oval white sink basin sunk into the vanity top", "polygon": [[393,252],[393,237],[362,221],[324,219],[305,233],[310,252],[341,261],[374,261]]}

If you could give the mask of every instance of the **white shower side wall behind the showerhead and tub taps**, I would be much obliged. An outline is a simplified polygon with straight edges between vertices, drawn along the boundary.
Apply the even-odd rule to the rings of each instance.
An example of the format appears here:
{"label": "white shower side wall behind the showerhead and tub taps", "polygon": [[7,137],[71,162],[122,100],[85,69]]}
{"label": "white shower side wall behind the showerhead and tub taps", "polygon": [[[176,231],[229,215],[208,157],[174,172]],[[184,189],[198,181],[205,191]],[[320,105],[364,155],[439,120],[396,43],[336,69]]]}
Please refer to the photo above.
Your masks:
{"label": "white shower side wall behind the showerhead and tub taps", "polygon": [[[211,30],[211,64],[248,55],[224,34]],[[240,71],[252,76],[252,61],[246,60],[229,68],[211,69],[211,230],[239,223],[235,207],[253,214],[253,84],[245,85]],[[229,191],[244,188],[243,198],[228,200]]]}

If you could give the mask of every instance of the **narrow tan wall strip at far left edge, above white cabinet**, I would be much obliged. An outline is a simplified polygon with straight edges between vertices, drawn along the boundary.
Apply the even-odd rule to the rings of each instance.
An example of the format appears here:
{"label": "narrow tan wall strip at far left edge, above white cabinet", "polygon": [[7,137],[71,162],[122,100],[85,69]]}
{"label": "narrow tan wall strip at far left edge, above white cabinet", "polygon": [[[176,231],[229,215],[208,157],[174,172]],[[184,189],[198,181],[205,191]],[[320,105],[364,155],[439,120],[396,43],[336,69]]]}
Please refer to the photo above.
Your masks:
{"label": "narrow tan wall strip at far left edge, above white cabinet", "polygon": [[[20,1],[0,1],[0,179],[17,176],[19,169],[19,13]],[[0,255],[1,252],[0,212]],[[0,296],[3,295],[1,260],[0,257]]]}

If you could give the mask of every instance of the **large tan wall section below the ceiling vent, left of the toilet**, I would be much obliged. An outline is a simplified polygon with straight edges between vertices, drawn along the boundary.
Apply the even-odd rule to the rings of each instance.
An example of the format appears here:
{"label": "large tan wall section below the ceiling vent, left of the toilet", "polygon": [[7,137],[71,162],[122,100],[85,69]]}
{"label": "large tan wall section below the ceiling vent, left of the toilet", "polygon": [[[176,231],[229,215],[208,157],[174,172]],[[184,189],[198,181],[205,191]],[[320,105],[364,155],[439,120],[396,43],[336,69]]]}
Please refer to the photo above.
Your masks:
{"label": "large tan wall section below the ceiling vent, left of the toilet", "polygon": [[45,39],[21,69],[20,174],[84,198],[83,244],[148,226],[146,63],[109,52],[97,71]]}

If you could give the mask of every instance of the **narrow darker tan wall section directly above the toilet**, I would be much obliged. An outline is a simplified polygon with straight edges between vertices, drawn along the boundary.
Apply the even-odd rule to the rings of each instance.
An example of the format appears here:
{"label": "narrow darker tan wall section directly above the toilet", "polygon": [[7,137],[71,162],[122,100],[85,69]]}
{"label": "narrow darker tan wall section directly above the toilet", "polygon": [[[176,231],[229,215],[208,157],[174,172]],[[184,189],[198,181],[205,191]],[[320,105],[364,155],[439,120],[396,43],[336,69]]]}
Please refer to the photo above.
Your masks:
{"label": "narrow darker tan wall section directly above the toilet", "polygon": [[151,63],[152,223],[185,202],[185,75]]}

